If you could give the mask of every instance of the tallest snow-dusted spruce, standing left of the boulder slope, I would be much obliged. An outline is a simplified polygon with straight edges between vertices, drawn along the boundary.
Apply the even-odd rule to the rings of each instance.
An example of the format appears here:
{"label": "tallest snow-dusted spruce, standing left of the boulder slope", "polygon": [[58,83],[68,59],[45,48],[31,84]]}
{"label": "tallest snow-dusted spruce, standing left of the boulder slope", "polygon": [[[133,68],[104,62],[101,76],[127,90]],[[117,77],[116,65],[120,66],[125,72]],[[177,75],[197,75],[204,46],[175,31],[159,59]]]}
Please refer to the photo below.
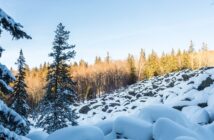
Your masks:
{"label": "tallest snow-dusted spruce, standing left of the boulder slope", "polygon": [[68,44],[69,33],[62,23],[57,26],[53,52],[49,54],[54,61],[48,69],[46,93],[39,105],[42,115],[37,122],[37,126],[48,133],[68,125],[77,125],[77,116],[70,108],[77,100],[77,94],[66,63],[75,56],[75,46]]}

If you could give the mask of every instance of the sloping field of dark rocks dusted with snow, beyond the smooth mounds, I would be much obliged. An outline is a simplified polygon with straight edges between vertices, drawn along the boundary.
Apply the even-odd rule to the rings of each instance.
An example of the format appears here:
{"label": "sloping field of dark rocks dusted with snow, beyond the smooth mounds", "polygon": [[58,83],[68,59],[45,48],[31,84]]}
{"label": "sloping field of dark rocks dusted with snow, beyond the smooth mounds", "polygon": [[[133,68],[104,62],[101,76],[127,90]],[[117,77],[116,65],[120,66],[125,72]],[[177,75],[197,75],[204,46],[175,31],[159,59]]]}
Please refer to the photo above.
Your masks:
{"label": "sloping field of dark rocks dusted with snow, beyond the smooth mounds", "polygon": [[165,104],[182,111],[193,122],[206,124],[214,119],[213,82],[214,68],[183,70],[138,82],[74,108],[80,124],[134,114],[150,104]]}

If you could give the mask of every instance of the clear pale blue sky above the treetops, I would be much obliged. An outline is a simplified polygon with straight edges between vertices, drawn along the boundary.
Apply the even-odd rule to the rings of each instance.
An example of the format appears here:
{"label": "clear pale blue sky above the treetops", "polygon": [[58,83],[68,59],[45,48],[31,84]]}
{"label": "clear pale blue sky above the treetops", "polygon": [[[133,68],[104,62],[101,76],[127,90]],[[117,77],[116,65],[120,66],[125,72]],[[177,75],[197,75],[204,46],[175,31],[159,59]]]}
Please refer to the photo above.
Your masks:
{"label": "clear pale blue sky above the treetops", "polygon": [[212,0],[0,0],[0,7],[24,26],[32,40],[11,40],[3,32],[6,49],[0,61],[14,66],[22,48],[30,66],[51,61],[54,30],[62,22],[76,44],[75,61],[93,62],[95,56],[124,59],[140,49],[158,53],[171,48],[195,48],[207,42],[214,49]]}

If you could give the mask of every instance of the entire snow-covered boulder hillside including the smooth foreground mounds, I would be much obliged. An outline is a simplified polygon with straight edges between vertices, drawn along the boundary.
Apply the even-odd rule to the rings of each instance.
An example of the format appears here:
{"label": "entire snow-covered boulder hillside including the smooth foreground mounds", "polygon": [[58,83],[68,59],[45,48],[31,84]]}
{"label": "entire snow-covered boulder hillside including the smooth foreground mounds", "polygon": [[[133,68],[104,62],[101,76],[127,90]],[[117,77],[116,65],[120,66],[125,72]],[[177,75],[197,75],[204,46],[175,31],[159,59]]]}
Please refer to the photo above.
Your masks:
{"label": "entire snow-covered boulder hillside including the smooth foreground mounds", "polygon": [[[214,68],[154,77],[72,107],[80,126],[37,140],[212,140]],[[36,133],[36,134],[35,134]]]}

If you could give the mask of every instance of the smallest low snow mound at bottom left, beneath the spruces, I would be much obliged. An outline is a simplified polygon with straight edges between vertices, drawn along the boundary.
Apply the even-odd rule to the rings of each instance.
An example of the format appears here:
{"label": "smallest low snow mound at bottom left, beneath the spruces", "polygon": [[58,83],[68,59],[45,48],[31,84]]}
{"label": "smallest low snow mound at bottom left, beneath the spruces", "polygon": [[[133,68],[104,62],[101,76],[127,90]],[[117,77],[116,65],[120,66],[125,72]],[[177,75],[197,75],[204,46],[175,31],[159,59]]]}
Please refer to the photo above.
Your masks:
{"label": "smallest low snow mound at bottom left, beneath the spruces", "polygon": [[46,140],[48,137],[48,134],[42,131],[35,131],[28,134],[26,137],[31,140]]}

